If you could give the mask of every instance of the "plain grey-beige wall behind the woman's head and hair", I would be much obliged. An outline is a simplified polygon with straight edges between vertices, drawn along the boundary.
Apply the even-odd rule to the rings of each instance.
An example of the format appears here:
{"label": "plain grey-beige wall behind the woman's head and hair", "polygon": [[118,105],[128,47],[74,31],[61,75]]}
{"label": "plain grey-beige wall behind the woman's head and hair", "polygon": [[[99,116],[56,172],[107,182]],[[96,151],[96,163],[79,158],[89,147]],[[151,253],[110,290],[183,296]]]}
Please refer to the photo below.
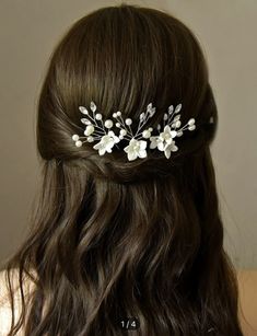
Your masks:
{"label": "plain grey-beige wall behind the woman's head and hair", "polygon": [[[219,128],[211,151],[225,250],[236,267],[257,268],[257,1],[126,2],[168,11],[200,40],[219,109]],[[13,253],[25,236],[38,188],[36,101],[50,53],[77,20],[101,7],[118,3],[0,1],[0,260]]]}

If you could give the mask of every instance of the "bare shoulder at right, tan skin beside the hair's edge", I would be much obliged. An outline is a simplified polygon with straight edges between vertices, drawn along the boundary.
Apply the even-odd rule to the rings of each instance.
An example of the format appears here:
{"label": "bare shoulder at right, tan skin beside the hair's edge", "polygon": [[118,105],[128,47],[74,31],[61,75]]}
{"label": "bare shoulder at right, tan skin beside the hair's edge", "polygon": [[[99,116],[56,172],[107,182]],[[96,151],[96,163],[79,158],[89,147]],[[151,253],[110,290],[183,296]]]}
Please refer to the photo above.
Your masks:
{"label": "bare shoulder at right, tan skin beside the hair's edge", "polygon": [[237,270],[238,315],[245,336],[257,336],[257,270]]}

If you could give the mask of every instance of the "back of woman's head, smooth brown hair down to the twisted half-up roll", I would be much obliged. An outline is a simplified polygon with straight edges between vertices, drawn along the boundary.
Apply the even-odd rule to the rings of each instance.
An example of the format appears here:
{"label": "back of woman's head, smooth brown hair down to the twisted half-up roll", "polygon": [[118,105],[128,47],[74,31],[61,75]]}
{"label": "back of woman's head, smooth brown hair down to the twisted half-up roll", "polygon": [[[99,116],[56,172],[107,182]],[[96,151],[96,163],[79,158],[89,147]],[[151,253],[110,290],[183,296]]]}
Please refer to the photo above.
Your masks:
{"label": "back of woman's head, smooth brown hair down to the twisted half-up roll", "polygon": [[[132,119],[153,102],[151,126],[161,121],[167,106],[182,102],[182,121],[195,117],[197,131],[177,140],[182,150],[168,162],[153,151],[145,160],[128,163],[116,148],[100,158],[92,143],[78,149],[71,141],[72,134],[82,135],[79,106],[91,101],[105,118],[121,111]],[[39,99],[38,151],[46,160],[82,164],[95,177],[131,182],[171,171],[187,153],[203,151],[215,126],[207,65],[192,33],[161,11],[113,7],[79,20],[56,47]]]}

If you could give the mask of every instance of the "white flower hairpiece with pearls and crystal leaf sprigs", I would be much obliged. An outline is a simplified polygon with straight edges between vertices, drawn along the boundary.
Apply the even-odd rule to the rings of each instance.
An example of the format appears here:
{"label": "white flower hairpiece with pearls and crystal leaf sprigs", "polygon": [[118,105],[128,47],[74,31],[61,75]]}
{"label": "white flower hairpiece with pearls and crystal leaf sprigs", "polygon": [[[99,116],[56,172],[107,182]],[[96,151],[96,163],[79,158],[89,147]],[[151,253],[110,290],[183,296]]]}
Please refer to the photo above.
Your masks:
{"label": "white flower hairpiece with pearls and crystal leaf sprigs", "polygon": [[[163,116],[163,128],[160,124],[157,125],[157,136],[151,135],[153,131],[152,127],[142,129],[155,113],[155,107],[152,106],[152,103],[147,106],[145,112],[140,114],[140,120],[136,134],[132,132],[130,127],[132,120],[130,118],[124,120],[120,111],[113,114],[113,117],[116,119],[116,123],[114,123],[114,119],[106,119],[103,121],[103,115],[96,113],[96,105],[94,102],[91,102],[90,104],[92,114],[90,114],[84,106],[79,106],[79,109],[86,116],[81,118],[81,123],[86,125],[86,127],[84,130],[84,137],[78,135],[72,136],[75,146],[81,147],[84,142],[100,140],[93,146],[93,149],[98,150],[100,155],[104,155],[106,152],[110,153],[113,147],[117,146],[120,140],[125,139],[129,141],[129,144],[124,148],[129,161],[136,160],[137,158],[147,158],[147,139],[150,140],[150,149],[157,148],[160,151],[164,152],[166,159],[170,159],[171,152],[178,150],[174,138],[183,136],[183,132],[186,129],[196,129],[194,118],[190,118],[186,125],[180,127],[180,114],[178,113],[182,109],[182,104],[178,104],[175,108],[173,105],[168,106],[168,112]],[[120,129],[118,136],[110,130],[114,125]],[[85,140],[82,141],[83,139]]]}

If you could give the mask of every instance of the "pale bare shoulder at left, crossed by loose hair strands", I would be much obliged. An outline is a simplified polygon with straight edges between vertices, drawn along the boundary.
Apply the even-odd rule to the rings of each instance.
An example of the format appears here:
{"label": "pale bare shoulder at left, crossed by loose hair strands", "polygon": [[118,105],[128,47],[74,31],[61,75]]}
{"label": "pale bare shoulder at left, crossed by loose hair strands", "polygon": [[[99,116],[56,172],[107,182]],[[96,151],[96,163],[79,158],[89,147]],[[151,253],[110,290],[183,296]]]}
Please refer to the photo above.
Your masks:
{"label": "pale bare shoulder at left, crossed by loose hair strands", "polygon": [[[14,318],[15,322],[19,320],[20,313],[21,313],[21,294],[19,290],[19,274],[17,270],[12,271],[11,276],[11,285],[13,288],[13,299],[14,299]],[[25,278],[25,281],[23,282],[23,289],[24,289],[24,297],[26,298],[28,294],[28,291],[33,287],[33,281],[30,280],[30,278]],[[0,336],[7,335],[10,332],[11,327],[11,321],[12,321],[12,310],[11,310],[11,302],[9,299],[9,286],[8,286],[8,278],[7,278],[7,271],[1,270],[0,271]],[[19,335],[22,331],[20,331]]]}

